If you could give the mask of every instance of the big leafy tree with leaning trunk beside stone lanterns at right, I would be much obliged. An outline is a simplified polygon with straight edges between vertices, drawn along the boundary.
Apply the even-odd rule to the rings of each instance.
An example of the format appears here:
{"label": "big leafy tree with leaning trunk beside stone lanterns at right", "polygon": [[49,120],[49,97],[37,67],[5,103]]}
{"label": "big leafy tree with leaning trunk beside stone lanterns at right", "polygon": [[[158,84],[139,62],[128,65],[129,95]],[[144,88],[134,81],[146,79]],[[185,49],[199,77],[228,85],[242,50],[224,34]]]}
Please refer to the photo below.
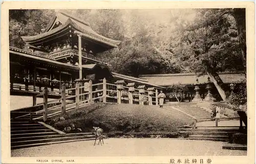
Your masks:
{"label": "big leafy tree with leaning trunk beside stone lanterns at right", "polygon": [[[225,11],[225,10],[224,10]],[[200,9],[193,25],[182,26],[183,38],[175,54],[194,72],[207,74],[226,100],[218,72],[244,69],[236,20],[222,9]],[[226,13],[226,12],[225,12]]]}

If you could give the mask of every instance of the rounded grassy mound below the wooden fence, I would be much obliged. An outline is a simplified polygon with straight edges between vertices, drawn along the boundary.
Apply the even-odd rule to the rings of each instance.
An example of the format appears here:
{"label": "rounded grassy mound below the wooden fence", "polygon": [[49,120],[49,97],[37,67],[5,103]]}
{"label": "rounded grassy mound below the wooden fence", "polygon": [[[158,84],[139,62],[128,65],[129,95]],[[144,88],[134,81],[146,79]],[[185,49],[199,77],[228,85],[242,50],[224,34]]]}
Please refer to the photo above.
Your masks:
{"label": "rounded grassy mound below the wooden fence", "polygon": [[[60,116],[65,120],[59,121]],[[109,137],[179,137],[178,128],[193,123],[187,115],[175,109],[158,106],[97,103],[65,115],[55,116],[52,126],[62,130],[70,124],[91,132],[101,127]]]}

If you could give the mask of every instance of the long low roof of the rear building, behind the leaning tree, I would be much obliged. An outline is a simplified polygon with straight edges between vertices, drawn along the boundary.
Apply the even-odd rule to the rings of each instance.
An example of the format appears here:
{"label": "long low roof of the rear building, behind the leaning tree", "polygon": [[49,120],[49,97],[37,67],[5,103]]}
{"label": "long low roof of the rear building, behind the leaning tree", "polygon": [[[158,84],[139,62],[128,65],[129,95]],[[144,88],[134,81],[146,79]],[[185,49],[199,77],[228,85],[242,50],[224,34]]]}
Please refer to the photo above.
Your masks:
{"label": "long low roof of the rear building, behind the leaning tree", "polygon": [[[245,79],[245,75],[242,72],[222,72],[218,73],[224,83],[236,83],[239,80]],[[155,74],[155,75],[140,75],[140,79],[146,79],[149,83],[168,86],[173,84],[187,84],[194,85],[196,79],[200,84],[207,83],[207,75],[199,76],[196,73],[184,73],[184,74]]]}

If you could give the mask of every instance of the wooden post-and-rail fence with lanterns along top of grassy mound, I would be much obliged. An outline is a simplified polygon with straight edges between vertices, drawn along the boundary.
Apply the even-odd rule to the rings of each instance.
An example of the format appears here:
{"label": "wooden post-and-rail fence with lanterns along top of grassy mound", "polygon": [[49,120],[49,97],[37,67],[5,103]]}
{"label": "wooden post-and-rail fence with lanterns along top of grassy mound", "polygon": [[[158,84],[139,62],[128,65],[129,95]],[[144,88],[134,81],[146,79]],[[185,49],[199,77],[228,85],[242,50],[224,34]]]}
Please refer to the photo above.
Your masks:
{"label": "wooden post-and-rail fence with lanterns along top of grassy mound", "polygon": [[[134,88],[134,83],[129,83],[127,86],[123,86],[124,84],[123,80],[119,80],[115,84],[107,83],[104,78],[102,83],[92,84],[90,80],[89,84],[85,86],[82,82],[77,82],[74,88],[66,88],[66,85],[63,84],[61,89],[56,91],[51,91],[47,87],[41,92],[35,89],[33,106],[42,106],[42,109],[22,112],[23,114],[18,116],[15,113],[21,114],[20,112],[11,111],[12,119],[30,115],[31,120],[43,119],[47,121],[47,118],[57,113],[66,113],[67,110],[78,109],[97,102],[158,105],[157,89],[147,88],[145,90],[144,85]],[[93,88],[96,89],[93,90]],[[57,95],[60,98],[49,101],[49,95]],[[36,104],[36,97],[43,97],[44,101]]]}

